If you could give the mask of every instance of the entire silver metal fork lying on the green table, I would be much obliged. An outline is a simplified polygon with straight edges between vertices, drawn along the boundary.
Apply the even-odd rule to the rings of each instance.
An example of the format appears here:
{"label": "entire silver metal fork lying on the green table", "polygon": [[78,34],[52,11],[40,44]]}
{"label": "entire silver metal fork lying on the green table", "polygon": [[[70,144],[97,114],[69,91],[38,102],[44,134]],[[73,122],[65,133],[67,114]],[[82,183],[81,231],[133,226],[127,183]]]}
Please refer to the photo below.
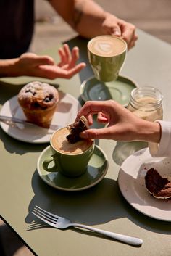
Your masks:
{"label": "entire silver metal fork lying on the green table", "polygon": [[50,226],[52,226],[54,228],[64,229],[64,228],[68,228],[70,226],[75,226],[75,227],[79,227],[79,228],[86,228],[88,230],[94,231],[94,232],[102,234],[104,236],[109,236],[112,239],[117,239],[126,244],[132,244],[132,245],[138,246],[143,243],[142,239],[138,239],[133,236],[125,236],[122,234],[104,231],[99,228],[93,228],[91,226],[86,226],[86,225],[83,225],[80,223],[73,223],[69,219],[54,215],[51,212],[47,212],[46,210],[41,209],[41,207],[38,207],[37,205],[34,207],[32,213],[34,215],[36,215],[39,219],[43,220],[43,222],[49,224]]}

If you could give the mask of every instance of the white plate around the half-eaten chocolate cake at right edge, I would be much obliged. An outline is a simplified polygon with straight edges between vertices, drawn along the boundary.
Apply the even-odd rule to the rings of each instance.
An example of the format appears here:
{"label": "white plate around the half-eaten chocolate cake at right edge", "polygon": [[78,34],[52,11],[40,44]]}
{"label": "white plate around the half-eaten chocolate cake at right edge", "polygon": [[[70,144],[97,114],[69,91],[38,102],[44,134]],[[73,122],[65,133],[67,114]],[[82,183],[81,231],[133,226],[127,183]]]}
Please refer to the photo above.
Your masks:
{"label": "white plate around the half-eaten chocolate cake at right edge", "polygon": [[141,149],[122,163],[118,183],[123,197],[136,210],[158,220],[171,221],[171,201],[156,199],[146,190],[146,171],[155,168],[160,175],[170,176],[171,159],[151,157],[149,149]]}

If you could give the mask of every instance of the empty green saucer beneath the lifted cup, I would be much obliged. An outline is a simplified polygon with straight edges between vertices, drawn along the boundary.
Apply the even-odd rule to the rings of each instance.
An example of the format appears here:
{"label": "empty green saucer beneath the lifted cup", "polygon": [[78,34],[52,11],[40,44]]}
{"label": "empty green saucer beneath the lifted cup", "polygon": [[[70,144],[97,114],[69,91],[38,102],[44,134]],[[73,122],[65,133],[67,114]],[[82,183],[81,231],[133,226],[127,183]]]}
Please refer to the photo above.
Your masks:
{"label": "empty green saucer beneath the lifted cup", "polygon": [[85,102],[114,99],[126,107],[130,102],[130,93],[135,87],[137,85],[133,80],[121,75],[112,82],[101,82],[91,77],[81,84],[80,96]]}

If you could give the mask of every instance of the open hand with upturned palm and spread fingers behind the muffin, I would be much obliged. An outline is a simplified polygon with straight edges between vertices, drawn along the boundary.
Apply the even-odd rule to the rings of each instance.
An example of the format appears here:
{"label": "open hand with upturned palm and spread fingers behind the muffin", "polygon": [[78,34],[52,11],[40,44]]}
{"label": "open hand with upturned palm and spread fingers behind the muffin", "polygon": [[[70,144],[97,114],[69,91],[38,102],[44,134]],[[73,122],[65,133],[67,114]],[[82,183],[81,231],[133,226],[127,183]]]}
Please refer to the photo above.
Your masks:
{"label": "open hand with upturned palm and spread fingers behind the muffin", "polygon": [[79,73],[84,62],[76,62],[79,59],[79,49],[74,47],[70,51],[69,46],[64,44],[59,49],[60,62],[56,65],[54,59],[49,56],[38,56],[33,53],[22,54],[17,62],[17,75],[36,76],[41,78],[72,78],[73,75]]}

